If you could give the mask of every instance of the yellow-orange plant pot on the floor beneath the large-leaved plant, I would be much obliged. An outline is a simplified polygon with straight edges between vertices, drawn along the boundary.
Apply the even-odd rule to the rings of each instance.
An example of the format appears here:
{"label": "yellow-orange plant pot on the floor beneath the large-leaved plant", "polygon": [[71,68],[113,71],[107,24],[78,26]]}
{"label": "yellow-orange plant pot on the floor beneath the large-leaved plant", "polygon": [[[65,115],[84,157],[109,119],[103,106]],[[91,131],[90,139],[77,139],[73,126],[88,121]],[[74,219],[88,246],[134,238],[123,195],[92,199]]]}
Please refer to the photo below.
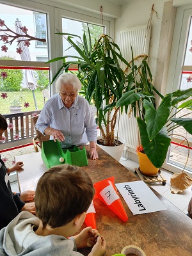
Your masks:
{"label": "yellow-orange plant pot on the floor beneath the large-leaved plant", "polygon": [[156,166],[154,166],[154,164],[151,163],[151,161],[148,159],[147,155],[143,154],[141,152],[137,152],[137,154],[138,154],[141,173],[143,173],[147,176],[158,175],[159,168],[156,168]]}

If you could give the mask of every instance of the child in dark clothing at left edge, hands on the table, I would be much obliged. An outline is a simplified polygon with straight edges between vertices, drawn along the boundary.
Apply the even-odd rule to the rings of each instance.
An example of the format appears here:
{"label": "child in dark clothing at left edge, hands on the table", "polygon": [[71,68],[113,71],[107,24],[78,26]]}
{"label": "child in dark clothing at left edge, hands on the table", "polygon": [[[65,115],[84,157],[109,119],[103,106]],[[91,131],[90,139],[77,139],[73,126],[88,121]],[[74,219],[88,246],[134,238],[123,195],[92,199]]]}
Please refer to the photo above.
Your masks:
{"label": "child in dark clothing at left edge, hands on the table", "polygon": [[[7,127],[6,119],[0,114],[0,140],[3,140],[2,135]],[[22,166],[22,162],[17,162],[12,168],[6,168],[0,156],[0,229],[6,227],[20,211],[26,210],[35,214],[34,202],[25,203],[33,200],[35,191],[24,191],[20,195],[12,193],[8,179],[8,173],[19,170]]]}

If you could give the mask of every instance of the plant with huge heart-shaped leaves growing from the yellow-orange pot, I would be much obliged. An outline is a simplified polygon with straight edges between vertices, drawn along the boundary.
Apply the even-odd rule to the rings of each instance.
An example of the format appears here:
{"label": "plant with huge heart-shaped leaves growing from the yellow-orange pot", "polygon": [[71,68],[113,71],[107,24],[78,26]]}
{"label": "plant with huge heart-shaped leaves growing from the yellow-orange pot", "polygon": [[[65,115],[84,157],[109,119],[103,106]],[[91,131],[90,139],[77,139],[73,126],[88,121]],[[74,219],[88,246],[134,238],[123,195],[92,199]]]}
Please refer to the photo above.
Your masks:
{"label": "plant with huge heart-shaped leaves growing from the yellow-orange pot", "polygon": [[[152,175],[163,165],[166,159],[166,154],[171,143],[172,132],[179,126],[192,134],[192,119],[181,116],[174,118],[182,109],[191,109],[192,100],[188,99],[192,96],[192,88],[188,90],[177,90],[176,92],[169,93],[166,96],[161,95],[154,86],[152,86],[162,101],[158,108],[155,107],[150,100],[143,100],[143,110],[141,115],[137,115],[138,128],[140,131],[140,138],[142,147],[138,147],[138,155],[146,154],[150,162],[156,167],[156,170],[152,171]],[[134,104],[139,105],[138,101],[133,101]],[[123,95],[122,99],[117,102],[117,106],[124,106],[130,103],[129,97]],[[179,107],[177,104],[183,102]],[[139,109],[141,111],[141,109]],[[139,141],[140,145],[140,141]],[[150,169],[150,168],[148,168]],[[143,170],[141,170],[143,172]],[[145,173],[151,175],[151,173]],[[156,173],[157,174],[157,173]]]}

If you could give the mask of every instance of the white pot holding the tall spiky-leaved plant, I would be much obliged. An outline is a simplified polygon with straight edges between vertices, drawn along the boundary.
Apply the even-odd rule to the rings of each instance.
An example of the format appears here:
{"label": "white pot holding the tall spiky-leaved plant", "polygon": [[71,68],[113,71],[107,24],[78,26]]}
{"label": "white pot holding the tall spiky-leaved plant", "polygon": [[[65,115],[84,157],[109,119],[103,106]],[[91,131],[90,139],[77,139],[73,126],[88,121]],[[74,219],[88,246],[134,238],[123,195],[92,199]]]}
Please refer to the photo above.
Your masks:
{"label": "white pot holding the tall spiky-leaved plant", "polygon": [[[98,136],[97,140],[100,140],[102,136]],[[118,137],[118,140],[122,142],[122,145],[116,146],[116,147],[110,147],[110,146],[102,146],[97,144],[100,148],[102,148],[105,152],[107,152],[110,156],[116,159],[116,161],[120,161],[120,158],[122,156],[122,152],[124,150],[125,146],[125,140],[123,138]]]}

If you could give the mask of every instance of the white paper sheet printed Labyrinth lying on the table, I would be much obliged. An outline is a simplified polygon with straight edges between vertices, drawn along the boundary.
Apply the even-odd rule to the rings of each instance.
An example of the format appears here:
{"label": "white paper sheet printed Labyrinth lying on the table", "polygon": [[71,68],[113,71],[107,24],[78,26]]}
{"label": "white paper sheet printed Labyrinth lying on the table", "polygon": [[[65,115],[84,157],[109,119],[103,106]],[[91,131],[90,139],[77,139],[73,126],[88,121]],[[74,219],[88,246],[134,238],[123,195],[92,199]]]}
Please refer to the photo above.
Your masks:
{"label": "white paper sheet printed Labyrinth lying on the table", "polygon": [[133,215],[167,210],[142,180],[115,184]]}

